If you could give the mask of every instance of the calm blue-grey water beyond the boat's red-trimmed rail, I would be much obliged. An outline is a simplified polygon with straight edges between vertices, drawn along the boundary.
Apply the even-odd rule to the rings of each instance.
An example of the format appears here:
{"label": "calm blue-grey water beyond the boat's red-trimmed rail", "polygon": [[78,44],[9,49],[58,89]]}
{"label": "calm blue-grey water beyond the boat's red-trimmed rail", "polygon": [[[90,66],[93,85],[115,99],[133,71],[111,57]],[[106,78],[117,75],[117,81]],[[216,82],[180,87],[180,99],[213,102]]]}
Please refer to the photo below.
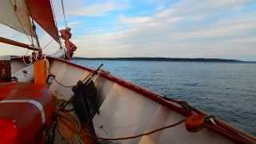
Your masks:
{"label": "calm blue-grey water beyond the boat's red-trimmed rail", "polygon": [[78,60],[114,76],[181,98],[192,106],[256,134],[256,64]]}

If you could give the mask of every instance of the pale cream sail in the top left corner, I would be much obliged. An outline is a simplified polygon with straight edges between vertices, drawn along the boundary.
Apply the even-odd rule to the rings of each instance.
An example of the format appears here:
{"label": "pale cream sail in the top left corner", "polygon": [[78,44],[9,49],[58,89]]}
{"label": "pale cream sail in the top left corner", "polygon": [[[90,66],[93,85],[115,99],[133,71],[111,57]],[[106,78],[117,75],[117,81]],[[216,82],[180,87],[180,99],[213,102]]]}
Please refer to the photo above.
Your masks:
{"label": "pale cream sail in the top left corner", "polygon": [[21,33],[34,36],[24,0],[1,0],[0,23]]}

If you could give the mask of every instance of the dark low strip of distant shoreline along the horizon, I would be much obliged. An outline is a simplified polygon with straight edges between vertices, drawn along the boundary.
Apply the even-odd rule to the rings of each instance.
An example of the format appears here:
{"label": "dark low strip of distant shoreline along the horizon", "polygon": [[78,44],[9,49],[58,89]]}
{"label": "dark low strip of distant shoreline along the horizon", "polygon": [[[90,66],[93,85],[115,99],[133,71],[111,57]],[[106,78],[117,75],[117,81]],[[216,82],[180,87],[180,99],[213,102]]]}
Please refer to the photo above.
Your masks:
{"label": "dark low strip of distant shoreline along the horizon", "polygon": [[108,60],[108,61],[159,61],[159,62],[246,62],[237,59],[222,58],[82,58],[74,57],[74,60]]}

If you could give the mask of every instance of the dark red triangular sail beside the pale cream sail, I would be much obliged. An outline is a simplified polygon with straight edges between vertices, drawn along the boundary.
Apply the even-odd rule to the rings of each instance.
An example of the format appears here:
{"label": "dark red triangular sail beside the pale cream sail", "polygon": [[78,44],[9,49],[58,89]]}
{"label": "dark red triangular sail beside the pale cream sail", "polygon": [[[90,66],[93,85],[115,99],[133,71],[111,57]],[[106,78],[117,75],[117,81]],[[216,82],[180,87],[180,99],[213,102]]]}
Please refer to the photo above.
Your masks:
{"label": "dark red triangular sail beside the pale cream sail", "polygon": [[26,3],[34,21],[42,26],[56,42],[59,42],[58,28],[54,22],[50,0],[26,0]]}

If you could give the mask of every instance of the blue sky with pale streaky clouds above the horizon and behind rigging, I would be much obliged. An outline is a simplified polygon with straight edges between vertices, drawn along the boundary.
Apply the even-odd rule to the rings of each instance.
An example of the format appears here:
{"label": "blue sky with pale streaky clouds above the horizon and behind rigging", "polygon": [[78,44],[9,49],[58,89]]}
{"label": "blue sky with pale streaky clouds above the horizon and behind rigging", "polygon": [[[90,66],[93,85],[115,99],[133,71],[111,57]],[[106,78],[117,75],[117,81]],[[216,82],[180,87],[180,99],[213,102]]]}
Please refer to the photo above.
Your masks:
{"label": "blue sky with pale streaky clouds above the horizon and behind rigging", "polygon": [[[256,0],[63,1],[78,47],[75,56],[256,61]],[[52,2],[61,29],[61,1]],[[48,34],[38,30],[38,35],[46,54],[58,50]],[[24,34],[6,26],[0,26],[0,36],[28,42]],[[0,46],[0,55],[26,54],[14,46]]]}

